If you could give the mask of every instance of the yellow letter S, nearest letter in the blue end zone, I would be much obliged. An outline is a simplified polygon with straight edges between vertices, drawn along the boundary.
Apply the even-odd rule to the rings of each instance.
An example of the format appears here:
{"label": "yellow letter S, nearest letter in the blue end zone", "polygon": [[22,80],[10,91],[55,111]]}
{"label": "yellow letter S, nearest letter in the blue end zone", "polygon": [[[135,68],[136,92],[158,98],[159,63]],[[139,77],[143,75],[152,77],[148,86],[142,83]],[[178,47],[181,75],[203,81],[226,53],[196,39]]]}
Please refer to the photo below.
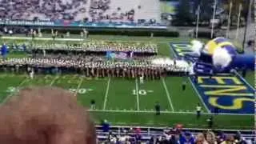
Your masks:
{"label": "yellow letter S, nearest letter in the blue end zone", "polygon": [[254,102],[254,98],[234,98],[232,106],[222,106],[218,104],[218,98],[209,98],[209,103],[212,106],[223,110],[239,110],[242,109],[242,102]]}

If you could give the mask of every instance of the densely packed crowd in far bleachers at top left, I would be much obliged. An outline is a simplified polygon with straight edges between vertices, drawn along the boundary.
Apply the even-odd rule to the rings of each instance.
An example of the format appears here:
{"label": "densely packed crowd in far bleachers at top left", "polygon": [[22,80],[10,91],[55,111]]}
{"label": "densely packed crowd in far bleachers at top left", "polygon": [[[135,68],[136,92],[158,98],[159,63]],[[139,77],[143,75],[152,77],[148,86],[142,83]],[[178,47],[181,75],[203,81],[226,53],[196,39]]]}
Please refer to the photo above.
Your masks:
{"label": "densely packed crowd in far bleachers at top left", "polygon": [[86,13],[87,0],[0,0],[0,18],[75,19]]}

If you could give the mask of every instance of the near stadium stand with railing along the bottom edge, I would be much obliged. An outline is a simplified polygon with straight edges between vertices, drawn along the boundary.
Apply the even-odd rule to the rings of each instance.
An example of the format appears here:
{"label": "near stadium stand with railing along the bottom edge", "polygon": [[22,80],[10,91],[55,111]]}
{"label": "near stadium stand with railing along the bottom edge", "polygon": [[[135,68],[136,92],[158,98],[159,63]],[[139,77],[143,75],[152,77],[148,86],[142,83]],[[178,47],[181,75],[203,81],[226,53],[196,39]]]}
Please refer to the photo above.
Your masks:
{"label": "near stadium stand with railing along the bottom edge", "polygon": [[[109,131],[97,127],[98,141],[110,143],[185,143],[182,138],[198,143],[198,135],[203,134],[205,143],[254,143],[254,131],[250,130],[207,130],[168,127],[111,126]],[[212,141],[210,141],[210,136]]]}

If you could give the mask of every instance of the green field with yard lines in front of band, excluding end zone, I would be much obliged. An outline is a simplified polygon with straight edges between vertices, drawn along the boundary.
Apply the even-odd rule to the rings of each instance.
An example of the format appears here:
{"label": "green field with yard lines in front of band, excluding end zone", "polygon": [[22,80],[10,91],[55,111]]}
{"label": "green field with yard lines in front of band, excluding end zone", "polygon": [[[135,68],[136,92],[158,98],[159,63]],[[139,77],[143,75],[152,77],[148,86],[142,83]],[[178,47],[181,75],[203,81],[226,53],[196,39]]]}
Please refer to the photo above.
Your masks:
{"label": "green field with yard lines in front of band, excluding end zone", "polygon": [[[182,91],[182,81],[187,78],[171,77],[146,81],[125,78],[86,78],[80,75],[35,75],[0,74],[0,101],[10,97],[27,86],[58,86],[70,90],[78,103],[90,110],[90,101],[96,102],[96,109],[90,110],[94,121],[107,119],[112,125],[126,126],[174,126],[182,123],[186,127],[206,127],[210,112],[204,106],[191,85]],[[156,116],[154,105],[158,102],[162,114]],[[202,118],[195,116],[197,104],[203,108]],[[216,128],[251,129],[252,115],[219,114],[214,117]]]}

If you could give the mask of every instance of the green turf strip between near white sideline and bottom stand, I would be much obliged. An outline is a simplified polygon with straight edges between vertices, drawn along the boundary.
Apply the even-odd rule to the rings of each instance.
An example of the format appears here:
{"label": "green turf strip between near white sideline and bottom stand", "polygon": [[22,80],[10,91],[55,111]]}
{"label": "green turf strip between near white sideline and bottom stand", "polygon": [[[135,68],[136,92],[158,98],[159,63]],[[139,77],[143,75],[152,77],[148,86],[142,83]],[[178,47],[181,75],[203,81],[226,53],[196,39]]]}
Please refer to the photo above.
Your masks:
{"label": "green turf strip between near white sideline and bottom stand", "polygon": [[[199,120],[195,114],[155,114],[145,113],[106,113],[91,112],[94,121],[100,123],[101,120],[107,119],[111,125],[121,126],[175,126],[183,124],[186,127],[207,128],[206,119],[209,115],[202,115]],[[236,115],[217,115],[214,116],[214,128],[218,129],[254,129],[253,116],[236,116]]]}

